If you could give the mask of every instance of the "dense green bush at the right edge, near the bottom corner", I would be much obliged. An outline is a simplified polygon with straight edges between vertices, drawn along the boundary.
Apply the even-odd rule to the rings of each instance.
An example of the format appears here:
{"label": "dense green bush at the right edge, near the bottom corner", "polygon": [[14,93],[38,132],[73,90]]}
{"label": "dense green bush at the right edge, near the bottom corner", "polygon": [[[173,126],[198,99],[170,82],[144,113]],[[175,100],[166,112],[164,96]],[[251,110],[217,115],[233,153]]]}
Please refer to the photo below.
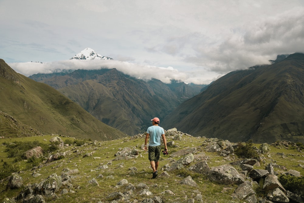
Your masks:
{"label": "dense green bush at the right edge, near the bottom corner", "polygon": [[278,176],[278,180],[286,190],[300,195],[304,194],[304,176],[296,177],[281,174]]}

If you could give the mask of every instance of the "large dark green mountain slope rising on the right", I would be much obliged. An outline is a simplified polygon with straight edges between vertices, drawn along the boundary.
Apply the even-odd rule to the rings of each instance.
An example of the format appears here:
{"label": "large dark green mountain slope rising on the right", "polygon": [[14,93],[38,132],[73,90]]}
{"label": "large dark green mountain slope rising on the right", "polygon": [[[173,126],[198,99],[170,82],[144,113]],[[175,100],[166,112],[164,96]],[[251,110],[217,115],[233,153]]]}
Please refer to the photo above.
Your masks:
{"label": "large dark green mountain slope rising on the right", "polygon": [[290,140],[304,133],[304,54],[230,72],[185,101],[163,124],[233,142]]}

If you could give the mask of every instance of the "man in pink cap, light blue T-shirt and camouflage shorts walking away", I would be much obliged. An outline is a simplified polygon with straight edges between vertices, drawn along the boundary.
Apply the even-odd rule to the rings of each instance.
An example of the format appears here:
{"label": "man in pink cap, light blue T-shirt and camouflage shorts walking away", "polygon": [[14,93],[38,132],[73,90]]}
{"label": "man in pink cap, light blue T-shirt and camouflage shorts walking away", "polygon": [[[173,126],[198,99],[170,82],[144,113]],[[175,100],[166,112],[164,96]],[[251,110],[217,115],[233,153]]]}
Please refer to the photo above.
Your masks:
{"label": "man in pink cap, light blue T-shirt and camouflage shorts walking away", "polygon": [[165,138],[164,129],[158,126],[159,118],[153,118],[152,126],[150,126],[147,130],[147,135],[145,139],[145,151],[147,152],[147,142],[149,140],[149,160],[153,170],[153,177],[157,177],[157,168],[158,168],[158,160],[161,153],[161,137],[163,138],[163,142],[165,145],[165,151],[167,151],[167,141]]}

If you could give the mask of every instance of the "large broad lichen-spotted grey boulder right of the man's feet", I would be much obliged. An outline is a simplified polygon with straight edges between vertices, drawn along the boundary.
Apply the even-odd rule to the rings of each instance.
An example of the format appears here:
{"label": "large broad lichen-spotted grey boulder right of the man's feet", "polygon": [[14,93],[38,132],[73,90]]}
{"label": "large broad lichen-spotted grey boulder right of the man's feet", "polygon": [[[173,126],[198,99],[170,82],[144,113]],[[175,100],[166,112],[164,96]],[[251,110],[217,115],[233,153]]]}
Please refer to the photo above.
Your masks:
{"label": "large broad lichen-spotted grey boulder right of the man's feet", "polygon": [[208,178],[225,185],[244,183],[244,178],[240,176],[239,172],[228,164],[212,167]]}

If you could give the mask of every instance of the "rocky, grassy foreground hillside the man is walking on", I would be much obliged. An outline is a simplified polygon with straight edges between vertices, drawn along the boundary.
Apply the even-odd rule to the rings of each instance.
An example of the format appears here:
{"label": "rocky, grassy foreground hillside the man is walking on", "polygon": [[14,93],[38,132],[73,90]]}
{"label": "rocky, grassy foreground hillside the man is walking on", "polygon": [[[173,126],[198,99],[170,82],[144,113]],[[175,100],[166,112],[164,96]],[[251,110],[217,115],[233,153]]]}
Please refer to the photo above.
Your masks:
{"label": "rocky, grassy foreground hillside the man is walking on", "polygon": [[[161,155],[151,179],[144,134],[113,141],[67,143],[42,163],[1,180],[2,202],[303,202],[304,153],[292,142],[254,144],[255,158],[237,156],[240,144],[218,138],[165,132],[169,155]],[[52,139],[51,139],[52,138]],[[50,140],[50,141],[49,141]],[[0,140],[5,143],[7,140]],[[70,142],[71,143],[71,142]],[[244,145],[243,145],[244,146]],[[5,145],[0,145],[1,151]],[[5,159],[6,161],[6,159]],[[26,162],[16,163],[25,167]],[[283,178],[282,178],[283,177]],[[280,182],[281,181],[281,182]]]}

